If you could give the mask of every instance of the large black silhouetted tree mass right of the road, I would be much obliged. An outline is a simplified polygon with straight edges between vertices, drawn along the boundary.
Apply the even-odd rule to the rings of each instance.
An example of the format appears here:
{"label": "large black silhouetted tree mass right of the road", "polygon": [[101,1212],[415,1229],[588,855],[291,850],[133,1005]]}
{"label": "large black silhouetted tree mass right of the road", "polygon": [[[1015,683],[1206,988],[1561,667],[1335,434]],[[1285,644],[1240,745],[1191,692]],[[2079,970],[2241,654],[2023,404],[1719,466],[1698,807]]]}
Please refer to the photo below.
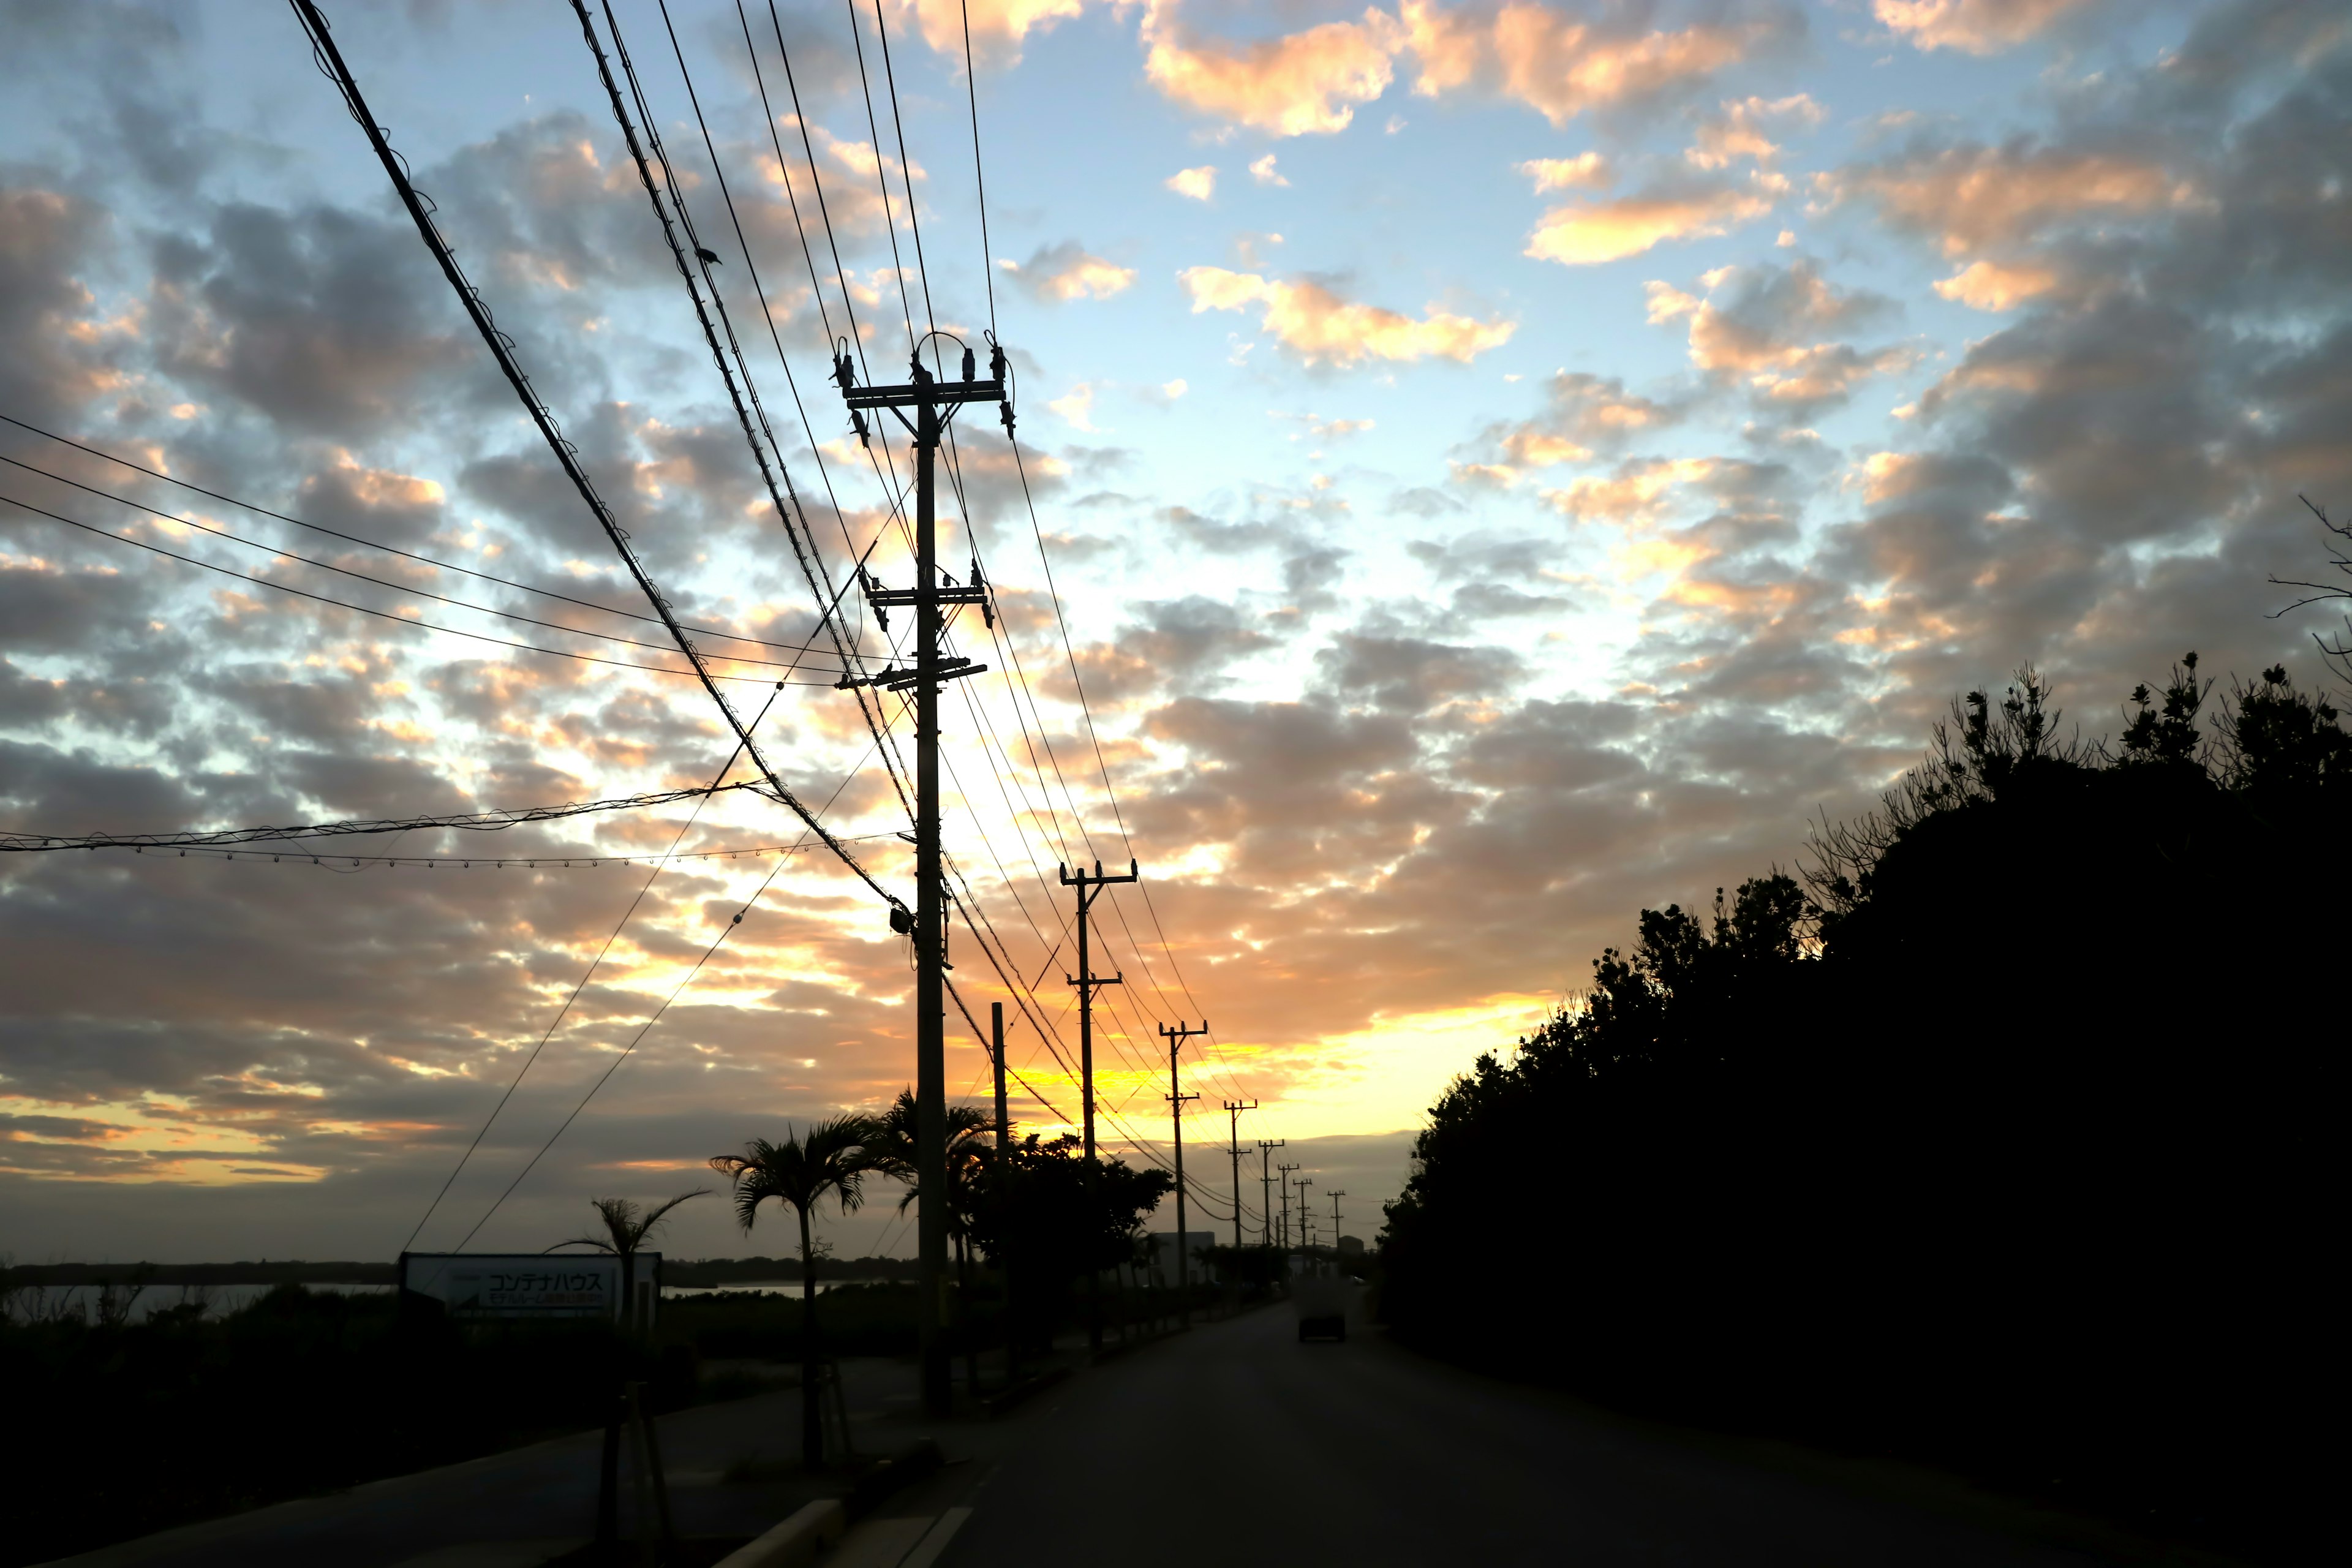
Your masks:
{"label": "large black silhouetted tree mass right of the road", "polygon": [[2288,1556],[2352,736],[2194,654],[2114,745],[1969,693],[1802,879],[1639,938],[1432,1107],[1397,1333],[1649,1415],[1898,1453]]}

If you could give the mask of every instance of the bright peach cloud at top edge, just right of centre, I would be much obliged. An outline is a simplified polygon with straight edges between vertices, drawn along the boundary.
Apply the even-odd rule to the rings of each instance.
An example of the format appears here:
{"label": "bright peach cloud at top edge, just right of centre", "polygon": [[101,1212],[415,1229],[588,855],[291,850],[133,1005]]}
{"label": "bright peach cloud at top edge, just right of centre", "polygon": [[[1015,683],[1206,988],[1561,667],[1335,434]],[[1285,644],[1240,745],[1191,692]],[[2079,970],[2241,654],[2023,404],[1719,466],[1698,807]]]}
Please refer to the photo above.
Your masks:
{"label": "bright peach cloud at top edge, just right of centre", "polygon": [[1195,38],[1169,5],[1143,14],[1143,75],[1185,108],[1272,136],[1348,129],[1359,103],[1388,92],[1402,33],[1381,9],[1303,33],[1228,42]]}

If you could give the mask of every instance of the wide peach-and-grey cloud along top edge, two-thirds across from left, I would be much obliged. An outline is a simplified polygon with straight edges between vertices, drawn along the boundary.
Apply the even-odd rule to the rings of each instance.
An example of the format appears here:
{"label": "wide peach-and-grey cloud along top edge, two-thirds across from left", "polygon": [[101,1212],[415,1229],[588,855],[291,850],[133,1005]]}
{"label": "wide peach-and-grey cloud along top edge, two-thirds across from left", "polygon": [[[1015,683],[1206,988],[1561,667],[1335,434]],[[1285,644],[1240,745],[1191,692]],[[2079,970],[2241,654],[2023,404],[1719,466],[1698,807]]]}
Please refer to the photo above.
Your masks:
{"label": "wide peach-and-grey cloud along top edge, two-thirds across from left", "polygon": [[1651,7],[1606,7],[1599,19],[1503,0],[1439,7],[1404,0],[1399,19],[1418,61],[1414,92],[1479,92],[1538,110],[1555,127],[1581,113],[1637,110],[1698,89],[1719,71],[1804,33],[1797,9],[1646,28]]}

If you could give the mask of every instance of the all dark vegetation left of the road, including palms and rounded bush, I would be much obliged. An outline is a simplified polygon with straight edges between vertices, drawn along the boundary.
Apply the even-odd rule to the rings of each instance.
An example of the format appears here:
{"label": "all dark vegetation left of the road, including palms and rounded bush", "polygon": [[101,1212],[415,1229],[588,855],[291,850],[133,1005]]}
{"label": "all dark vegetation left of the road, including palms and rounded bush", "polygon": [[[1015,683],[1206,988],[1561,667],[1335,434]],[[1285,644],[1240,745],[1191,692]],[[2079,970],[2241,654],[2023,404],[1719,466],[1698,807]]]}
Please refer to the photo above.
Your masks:
{"label": "all dark vegetation left of the road, including palms and rounded bush", "polygon": [[[1103,1161],[1089,1206],[1077,1140],[1025,1135],[1000,1161],[995,1128],[976,1135],[976,1112],[962,1124],[971,1135],[957,1140],[950,1234],[964,1258],[957,1338],[967,1366],[981,1349],[1000,1352],[1009,1328],[1028,1354],[1049,1349],[1077,1321],[1089,1267],[1105,1269],[1115,1328],[1171,1309],[1167,1291],[1120,1288],[1141,1286],[1129,1265],[1145,1215],[1171,1187],[1164,1171]],[[19,1446],[12,1472],[42,1507],[0,1537],[0,1568],[600,1427],[628,1380],[647,1385],[654,1410],[673,1410],[797,1385],[826,1356],[910,1356],[913,1281],[875,1281],[875,1260],[830,1260],[816,1234],[816,1215],[840,1208],[844,1175],[858,1194],[866,1175],[910,1178],[891,1119],[816,1128],[816,1171],[793,1164],[795,1147],[809,1154],[809,1133],[779,1131],[783,1138],[755,1143],[727,1173],[743,1175],[739,1215],[769,1199],[788,1211],[802,1258],[713,1274],[842,1281],[814,1300],[804,1291],[666,1298],[640,1328],[459,1321],[393,1293],[301,1284],[221,1312],[205,1284],[151,1284],[162,1269],[0,1269],[0,1387],[19,1408],[42,1413],[38,1441]],[[593,1227],[557,1246],[635,1258],[656,1244],[666,1211],[689,1197],[654,1208],[597,1199]],[[804,1213],[809,1229],[800,1234]],[[767,1215],[774,1222],[774,1204]],[[691,1276],[691,1267],[666,1272],[670,1284]],[[155,1298],[172,1305],[155,1307]],[[990,1371],[997,1366],[993,1354]],[[143,1450],[160,1434],[200,1441],[167,1443],[165,1460],[103,1458],[125,1453],[127,1436]]]}

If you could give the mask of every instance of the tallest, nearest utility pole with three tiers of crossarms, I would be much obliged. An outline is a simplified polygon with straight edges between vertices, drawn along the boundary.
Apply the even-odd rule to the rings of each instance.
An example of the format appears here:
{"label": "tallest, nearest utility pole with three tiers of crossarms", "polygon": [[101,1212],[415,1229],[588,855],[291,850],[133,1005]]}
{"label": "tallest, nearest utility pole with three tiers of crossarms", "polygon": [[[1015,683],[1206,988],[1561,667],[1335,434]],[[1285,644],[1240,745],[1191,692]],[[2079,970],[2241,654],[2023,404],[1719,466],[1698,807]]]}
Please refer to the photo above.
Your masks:
{"label": "tallest, nearest utility pole with three tiers of crossarms", "polygon": [[[957,588],[938,569],[936,456],[948,421],[967,402],[1004,404],[1004,350],[990,348],[988,381],[978,378],[971,350],[964,350],[964,378],[941,381],[922,367],[920,346],[908,355],[906,386],[858,386],[856,364],[842,350],[833,360],[833,378],[849,404],[849,421],[868,440],[863,409],[887,409],[915,437],[915,585],[884,590],[863,569],[858,581],[868,604],[915,611],[915,668],[887,668],[875,675],[844,675],[842,686],[870,684],[884,691],[915,691],[915,919],[894,910],[891,929],[915,938],[915,1192],[920,1192],[917,1281],[922,1309],[917,1340],[922,1347],[922,1403],[931,1415],[948,1415],[955,1401],[948,1361],[948,905],[941,898],[938,858],[938,689],[950,679],[978,675],[988,665],[969,658],[943,658],[948,604],[978,604],[995,621],[988,585],[974,559],[971,583]],[[1011,404],[1007,425],[1011,423]],[[910,421],[906,411],[913,409]]]}

